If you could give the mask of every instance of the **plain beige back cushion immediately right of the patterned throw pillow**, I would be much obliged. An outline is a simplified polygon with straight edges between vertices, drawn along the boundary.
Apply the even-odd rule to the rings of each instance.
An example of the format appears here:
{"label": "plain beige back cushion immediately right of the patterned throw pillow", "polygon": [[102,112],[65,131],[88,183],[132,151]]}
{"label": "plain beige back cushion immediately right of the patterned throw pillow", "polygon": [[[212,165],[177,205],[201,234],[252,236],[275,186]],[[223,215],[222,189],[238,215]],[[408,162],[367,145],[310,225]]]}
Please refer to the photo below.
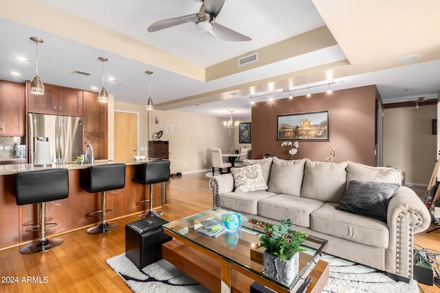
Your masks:
{"label": "plain beige back cushion immediately right of the patterned throw pillow", "polygon": [[306,159],[282,160],[274,157],[267,191],[300,196]]}

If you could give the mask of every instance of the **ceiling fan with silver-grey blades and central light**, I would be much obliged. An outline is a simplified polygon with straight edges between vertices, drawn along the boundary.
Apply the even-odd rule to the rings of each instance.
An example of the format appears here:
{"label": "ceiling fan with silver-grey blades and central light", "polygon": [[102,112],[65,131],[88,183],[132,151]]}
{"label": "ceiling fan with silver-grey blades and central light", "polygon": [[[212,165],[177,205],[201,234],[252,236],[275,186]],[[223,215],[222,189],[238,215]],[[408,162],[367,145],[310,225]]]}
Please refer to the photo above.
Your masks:
{"label": "ceiling fan with silver-grey blades and central light", "polygon": [[244,34],[235,32],[234,30],[215,22],[215,18],[217,15],[219,15],[225,0],[200,1],[202,4],[199,13],[175,17],[174,19],[157,21],[148,27],[148,32],[157,32],[158,30],[164,30],[168,27],[181,25],[182,23],[195,23],[199,30],[206,32],[215,38],[219,38],[220,40],[229,40],[235,42],[252,40],[252,38],[245,36]]}

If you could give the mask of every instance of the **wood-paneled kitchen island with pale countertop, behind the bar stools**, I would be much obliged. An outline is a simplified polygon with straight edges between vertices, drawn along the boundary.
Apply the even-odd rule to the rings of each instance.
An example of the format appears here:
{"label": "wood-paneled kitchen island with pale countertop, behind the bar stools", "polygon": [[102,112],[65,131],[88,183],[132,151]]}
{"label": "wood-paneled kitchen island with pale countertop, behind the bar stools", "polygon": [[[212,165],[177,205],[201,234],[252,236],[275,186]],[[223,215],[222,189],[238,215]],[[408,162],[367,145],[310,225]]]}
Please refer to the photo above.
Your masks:
{"label": "wood-paneled kitchen island with pale countertop, behind the bar stools", "polygon": [[[120,218],[133,213],[140,213],[146,205],[140,205],[146,199],[150,187],[132,181],[135,174],[135,165],[146,161],[108,161],[96,160],[93,165],[110,163],[124,163],[125,187],[124,189],[109,191],[107,193],[107,207],[113,213],[107,215],[108,220]],[[36,232],[25,230],[39,222],[38,204],[18,206],[15,200],[15,178],[19,172],[29,172],[38,169],[65,168],[69,170],[69,196],[64,200],[57,200],[55,204],[46,205],[47,222],[56,222],[57,226],[47,231],[48,236],[56,233],[72,231],[85,226],[92,226],[100,222],[100,218],[89,217],[87,214],[100,209],[100,195],[89,194],[80,187],[80,169],[90,167],[92,164],[78,164],[69,162],[65,164],[50,164],[36,166],[34,164],[0,165],[0,249],[30,242],[38,238]],[[163,183],[166,184],[166,183]],[[153,207],[160,208],[160,194],[164,190],[161,184],[153,185]],[[165,186],[164,186],[165,187]],[[58,205],[59,204],[59,205]],[[121,228],[121,227],[120,227]],[[122,227],[123,228],[123,227]],[[90,237],[94,237],[90,235]]]}

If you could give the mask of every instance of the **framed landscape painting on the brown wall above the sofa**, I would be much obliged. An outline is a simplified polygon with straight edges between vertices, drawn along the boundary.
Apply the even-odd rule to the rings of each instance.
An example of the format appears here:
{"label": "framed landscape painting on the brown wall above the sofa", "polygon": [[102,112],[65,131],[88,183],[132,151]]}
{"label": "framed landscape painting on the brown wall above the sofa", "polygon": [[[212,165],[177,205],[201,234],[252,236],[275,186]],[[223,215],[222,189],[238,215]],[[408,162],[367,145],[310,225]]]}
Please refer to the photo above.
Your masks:
{"label": "framed landscape painting on the brown wall above the sofa", "polygon": [[329,141],[329,110],[276,115],[276,140]]}

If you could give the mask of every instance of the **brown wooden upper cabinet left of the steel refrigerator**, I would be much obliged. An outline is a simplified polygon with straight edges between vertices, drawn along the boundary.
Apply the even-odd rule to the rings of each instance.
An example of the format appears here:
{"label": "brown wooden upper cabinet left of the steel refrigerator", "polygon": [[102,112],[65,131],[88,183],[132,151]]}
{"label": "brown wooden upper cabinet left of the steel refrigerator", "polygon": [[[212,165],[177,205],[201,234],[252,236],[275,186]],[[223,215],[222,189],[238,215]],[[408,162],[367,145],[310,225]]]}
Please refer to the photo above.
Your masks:
{"label": "brown wooden upper cabinet left of the steel refrigerator", "polygon": [[25,136],[25,85],[0,80],[0,135]]}

